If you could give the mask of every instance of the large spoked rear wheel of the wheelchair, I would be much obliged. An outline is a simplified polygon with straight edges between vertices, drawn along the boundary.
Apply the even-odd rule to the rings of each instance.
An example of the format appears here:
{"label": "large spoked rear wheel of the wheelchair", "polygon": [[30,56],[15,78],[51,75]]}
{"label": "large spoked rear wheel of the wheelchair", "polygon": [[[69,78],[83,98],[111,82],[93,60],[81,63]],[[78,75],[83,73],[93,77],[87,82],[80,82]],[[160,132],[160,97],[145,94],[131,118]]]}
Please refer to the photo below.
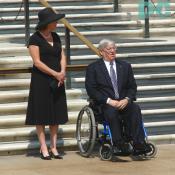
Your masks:
{"label": "large spoked rear wheel of the wheelchair", "polygon": [[89,106],[83,107],[78,114],[76,139],[80,154],[88,157],[94,148],[96,140],[95,117]]}

